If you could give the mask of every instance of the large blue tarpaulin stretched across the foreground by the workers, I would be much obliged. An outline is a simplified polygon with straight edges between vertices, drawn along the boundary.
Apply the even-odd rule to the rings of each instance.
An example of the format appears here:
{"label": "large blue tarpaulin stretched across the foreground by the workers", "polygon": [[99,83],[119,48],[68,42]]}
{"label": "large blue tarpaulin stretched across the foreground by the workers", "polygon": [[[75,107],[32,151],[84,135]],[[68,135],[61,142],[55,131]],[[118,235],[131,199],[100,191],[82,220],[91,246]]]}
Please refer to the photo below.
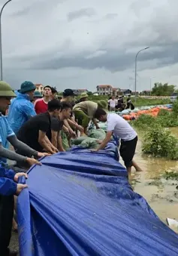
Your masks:
{"label": "large blue tarpaulin stretched across the foreground by the workers", "polygon": [[178,236],[133,192],[117,160],[112,142],[31,168],[17,201],[20,255],[178,255]]}

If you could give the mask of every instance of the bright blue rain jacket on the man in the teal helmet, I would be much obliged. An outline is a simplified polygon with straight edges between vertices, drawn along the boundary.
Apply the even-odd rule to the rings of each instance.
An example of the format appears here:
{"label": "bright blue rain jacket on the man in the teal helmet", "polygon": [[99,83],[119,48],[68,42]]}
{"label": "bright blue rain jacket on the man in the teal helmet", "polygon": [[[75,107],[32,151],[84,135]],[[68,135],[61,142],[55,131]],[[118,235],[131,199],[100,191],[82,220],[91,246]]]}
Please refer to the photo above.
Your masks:
{"label": "bright blue rain jacket on the man in the teal helmet", "polygon": [[36,116],[33,103],[28,94],[17,94],[17,97],[11,101],[8,113],[8,122],[15,134],[22,125],[32,116]]}

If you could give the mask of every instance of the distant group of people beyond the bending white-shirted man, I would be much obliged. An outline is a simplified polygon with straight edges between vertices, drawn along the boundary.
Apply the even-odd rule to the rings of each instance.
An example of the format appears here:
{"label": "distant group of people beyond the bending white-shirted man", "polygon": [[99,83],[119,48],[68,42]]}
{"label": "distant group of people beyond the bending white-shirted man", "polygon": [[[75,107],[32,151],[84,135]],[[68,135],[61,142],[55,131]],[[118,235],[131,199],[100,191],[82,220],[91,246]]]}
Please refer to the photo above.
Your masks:
{"label": "distant group of people beyond the bending white-shirted man", "polygon": [[131,96],[128,95],[126,102],[124,101],[124,96],[110,96],[108,100],[108,110],[109,111],[119,111],[122,112],[124,109],[134,109],[134,104],[131,103]]}

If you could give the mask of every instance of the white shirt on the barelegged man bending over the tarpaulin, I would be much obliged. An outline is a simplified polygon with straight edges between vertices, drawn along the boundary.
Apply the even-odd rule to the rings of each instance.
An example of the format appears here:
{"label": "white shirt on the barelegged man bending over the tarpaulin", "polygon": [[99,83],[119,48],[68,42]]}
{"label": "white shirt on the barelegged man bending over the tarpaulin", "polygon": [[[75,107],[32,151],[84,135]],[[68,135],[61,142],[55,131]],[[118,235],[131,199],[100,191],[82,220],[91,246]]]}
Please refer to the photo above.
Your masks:
{"label": "white shirt on the barelegged man bending over the tarpaulin", "polygon": [[134,140],[137,137],[131,125],[115,113],[107,114],[107,131],[113,131],[113,134],[122,140]]}

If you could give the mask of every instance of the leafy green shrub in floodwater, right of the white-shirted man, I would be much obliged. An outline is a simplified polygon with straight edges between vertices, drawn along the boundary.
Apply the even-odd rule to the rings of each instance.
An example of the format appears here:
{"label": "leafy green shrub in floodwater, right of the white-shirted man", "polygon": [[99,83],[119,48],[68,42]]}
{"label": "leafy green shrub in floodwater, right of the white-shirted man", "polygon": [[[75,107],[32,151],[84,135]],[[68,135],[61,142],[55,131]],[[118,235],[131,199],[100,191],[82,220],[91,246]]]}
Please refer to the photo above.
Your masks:
{"label": "leafy green shrub in floodwater, right of the white-shirted man", "polygon": [[155,125],[146,132],[142,151],[157,157],[166,157],[167,159],[178,159],[178,139],[166,131],[160,125]]}

